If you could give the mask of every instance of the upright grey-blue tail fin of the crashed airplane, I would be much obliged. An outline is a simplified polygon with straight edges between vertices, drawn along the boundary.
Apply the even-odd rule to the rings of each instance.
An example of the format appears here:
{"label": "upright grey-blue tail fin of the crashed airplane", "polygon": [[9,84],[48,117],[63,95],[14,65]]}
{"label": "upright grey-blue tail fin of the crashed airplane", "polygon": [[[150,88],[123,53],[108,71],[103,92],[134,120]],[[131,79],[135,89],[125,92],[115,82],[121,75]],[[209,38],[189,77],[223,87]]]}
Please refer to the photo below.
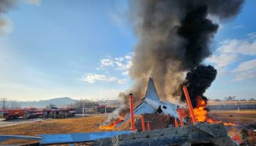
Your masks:
{"label": "upright grey-blue tail fin of the crashed airplane", "polygon": [[146,91],[145,99],[151,99],[153,101],[159,101],[156,87],[154,86],[154,81],[151,77],[148,80],[148,88]]}

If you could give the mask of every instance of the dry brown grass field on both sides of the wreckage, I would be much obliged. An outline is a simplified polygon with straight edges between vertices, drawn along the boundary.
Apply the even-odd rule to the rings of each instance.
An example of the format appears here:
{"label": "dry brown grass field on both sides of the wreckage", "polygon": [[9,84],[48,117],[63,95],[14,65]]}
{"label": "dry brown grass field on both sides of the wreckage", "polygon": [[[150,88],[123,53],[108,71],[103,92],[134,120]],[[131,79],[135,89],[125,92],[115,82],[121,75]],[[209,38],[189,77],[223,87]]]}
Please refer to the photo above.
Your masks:
{"label": "dry brown grass field on both sides of the wreckage", "polygon": [[[254,123],[256,122],[256,110],[238,111],[211,111],[211,118],[223,120],[224,122]],[[0,134],[15,134],[25,136],[36,136],[37,134],[67,134],[76,132],[111,131],[99,129],[99,124],[106,118],[105,115],[91,115],[83,118],[44,120],[33,123],[21,123],[15,126],[0,127]],[[1,125],[1,122],[0,122]],[[125,126],[127,127],[127,126]],[[124,130],[117,128],[115,130]],[[11,139],[0,145],[17,145],[37,141],[26,141]]]}

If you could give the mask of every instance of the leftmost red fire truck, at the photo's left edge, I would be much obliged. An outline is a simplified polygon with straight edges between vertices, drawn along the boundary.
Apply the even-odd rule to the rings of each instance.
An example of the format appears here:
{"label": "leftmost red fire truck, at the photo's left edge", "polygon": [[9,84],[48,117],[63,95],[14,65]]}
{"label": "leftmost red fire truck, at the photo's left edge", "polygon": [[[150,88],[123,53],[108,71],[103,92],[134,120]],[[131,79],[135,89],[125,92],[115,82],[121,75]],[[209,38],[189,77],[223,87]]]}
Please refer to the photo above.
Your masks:
{"label": "leftmost red fire truck, at the photo's left edge", "polygon": [[0,117],[7,120],[18,119],[24,116],[24,109],[1,110]]}

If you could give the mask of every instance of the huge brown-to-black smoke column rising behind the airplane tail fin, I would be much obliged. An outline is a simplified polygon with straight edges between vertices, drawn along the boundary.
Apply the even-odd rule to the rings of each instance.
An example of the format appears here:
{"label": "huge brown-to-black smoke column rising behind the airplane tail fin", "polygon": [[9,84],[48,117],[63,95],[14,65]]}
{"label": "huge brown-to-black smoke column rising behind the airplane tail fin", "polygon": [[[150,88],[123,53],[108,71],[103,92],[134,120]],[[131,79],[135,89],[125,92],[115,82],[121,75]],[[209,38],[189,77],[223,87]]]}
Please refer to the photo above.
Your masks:
{"label": "huge brown-to-black smoke column rising behind the airplane tail fin", "polygon": [[[193,80],[197,79],[195,72],[204,69],[199,65],[211,55],[209,45],[218,24],[208,19],[208,15],[229,20],[238,14],[243,3],[244,0],[131,1],[129,8],[138,45],[129,70],[134,85],[129,91],[120,93],[124,103],[129,103],[129,92],[135,95],[135,104],[139,103],[145,94],[148,77],[153,77],[160,99],[180,99],[178,88],[184,82],[185,72],[192,70],[187,80],[190,81],[190,74]],[[211,81],[214,80],[216,70],[211,66],[206,68],[214,72]],[[189,85],[193,89],[194,84]],[[199,95],[203,96],[204,91],[198,91]]]}

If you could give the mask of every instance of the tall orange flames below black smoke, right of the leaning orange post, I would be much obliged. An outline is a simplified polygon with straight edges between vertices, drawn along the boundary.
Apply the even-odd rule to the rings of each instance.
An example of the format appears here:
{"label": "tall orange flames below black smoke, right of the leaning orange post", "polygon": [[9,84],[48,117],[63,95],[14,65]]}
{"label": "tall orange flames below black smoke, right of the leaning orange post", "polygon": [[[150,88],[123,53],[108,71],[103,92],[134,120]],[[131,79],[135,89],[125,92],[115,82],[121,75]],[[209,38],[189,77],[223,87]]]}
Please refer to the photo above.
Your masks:
{"label": "tall orange flames below black smoke, right of the leaning orange post", "polygon": [[[206,111],[206,101],[203,100],[200,96],[197,96],[195,99],[197,102],[197,107],[193,109],[195,118],[197,122],[207,122],[207,123],[222,123],[221,120],[212,120],[211,118],[207,117]],[[236,126],[235,123],[224,123],[225,126]]]}

